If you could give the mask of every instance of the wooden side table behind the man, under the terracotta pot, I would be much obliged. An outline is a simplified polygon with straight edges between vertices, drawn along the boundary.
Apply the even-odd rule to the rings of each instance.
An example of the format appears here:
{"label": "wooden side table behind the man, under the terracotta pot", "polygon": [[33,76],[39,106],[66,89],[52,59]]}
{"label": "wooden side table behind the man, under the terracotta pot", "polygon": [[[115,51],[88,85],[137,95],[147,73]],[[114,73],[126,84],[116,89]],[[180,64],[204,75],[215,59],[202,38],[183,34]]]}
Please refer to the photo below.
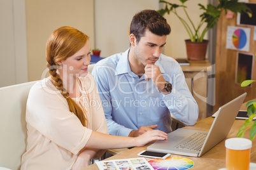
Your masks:
{"label": "wooden side table behind the man, under the terracotta pot", "polygon": [[208,96],[208,75],[212,67],[208,60],[189,60],[188,62],[190,65],[181,65],[181,69],[185,78],[190,79],[187,84],[199,107],[199,116],[197,119],[199,121],[211,116],[210,111],[207,110],[206,98]]}

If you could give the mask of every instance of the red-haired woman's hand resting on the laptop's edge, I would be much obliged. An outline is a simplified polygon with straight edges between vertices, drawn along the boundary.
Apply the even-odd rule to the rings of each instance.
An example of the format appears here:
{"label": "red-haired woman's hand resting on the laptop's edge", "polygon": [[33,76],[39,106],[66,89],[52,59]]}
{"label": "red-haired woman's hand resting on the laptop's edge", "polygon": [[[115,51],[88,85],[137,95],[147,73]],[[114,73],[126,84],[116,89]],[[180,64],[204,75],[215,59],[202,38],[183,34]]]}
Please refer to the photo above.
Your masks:
{"label": "red-haired woman's hand resting on the laptop's edge", "polygon": [[141,136],[136,137],[135,140],[136,146],[142,147],[153,140],[167,140],[167,133],[159,130],[146,131]]}

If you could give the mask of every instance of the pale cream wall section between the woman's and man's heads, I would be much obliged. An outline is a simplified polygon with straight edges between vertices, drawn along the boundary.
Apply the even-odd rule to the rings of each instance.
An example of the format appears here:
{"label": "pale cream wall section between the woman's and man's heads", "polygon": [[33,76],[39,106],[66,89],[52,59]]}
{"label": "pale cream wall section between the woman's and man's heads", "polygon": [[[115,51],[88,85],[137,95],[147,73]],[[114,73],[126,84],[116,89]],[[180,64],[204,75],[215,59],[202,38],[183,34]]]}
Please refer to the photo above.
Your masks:
{"label": "pale cream wall section between the woman's and man's heads", "polygon": [[158,0],[95,0],[95,47],[101,56],[129,48],[129,24],[132,16],[145,9],[158,10]]}

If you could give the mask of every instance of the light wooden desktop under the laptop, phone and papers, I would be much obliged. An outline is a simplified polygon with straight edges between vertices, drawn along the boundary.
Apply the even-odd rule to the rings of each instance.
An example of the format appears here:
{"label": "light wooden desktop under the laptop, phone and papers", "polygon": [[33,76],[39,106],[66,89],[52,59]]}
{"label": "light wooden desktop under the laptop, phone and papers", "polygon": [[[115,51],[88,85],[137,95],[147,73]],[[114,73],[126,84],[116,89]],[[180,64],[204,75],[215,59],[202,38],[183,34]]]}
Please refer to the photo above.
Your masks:
{"label": "light wooden desktop under the laptop, phone and papers", "polygon": [[[241,107],[242,110],[245,110],[245,104]],[[198,129],[203,131],[209,131],[211,124],[213,123],[214,118],[208,117],[201,121],[198,121],[194,126],[186,126],[186,129]],[[234,138],[238,133],[238,129],[241,125],[245,122],[244,120],[236,120],[229,132],[227,138]],[[246,131],[245,138],[249,138],[249,131]],[[114,155],[113,157],[109,157],[105,160],[113,160],[113,159],[127,159],[127,158],[135,158],[138,157],[137,154],[142,150],[146,150],[146,146],[144,147],[135,147],[120,154]],[[193,169],[220,169],[225,167],[225,140],[218,143],[215,147],[211,148],[206,154],[202,157],[187,157],[183,155],[171,155],[172,157],[186,157],[194,161],[195,165]],[[150,158],[146,158],[150,160]],[[252,143],[252,150],[251,150],[251,162],[256,163],[256,141],[254,140]],[[96,164],[92,164],[91,166],[85,167],[85,169],[98,169]]]}

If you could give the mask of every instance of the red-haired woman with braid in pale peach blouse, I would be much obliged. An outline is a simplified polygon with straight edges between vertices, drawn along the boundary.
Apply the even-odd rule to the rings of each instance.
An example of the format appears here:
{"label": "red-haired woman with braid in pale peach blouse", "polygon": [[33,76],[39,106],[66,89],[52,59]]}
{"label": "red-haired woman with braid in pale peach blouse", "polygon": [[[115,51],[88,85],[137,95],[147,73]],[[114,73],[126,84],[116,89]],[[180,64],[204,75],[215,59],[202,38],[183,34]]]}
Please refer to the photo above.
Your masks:
{"label": "red-haired woman with braid in pale peach blouse", "polygon": [[96,88],[88,73],[89,37],[60,27],[48,38],[50,76],[32,86],[27,99],[27,150],[21,169],[81,169],[106,149],[165,140],[153,130],[136,137],[111,136]]}

